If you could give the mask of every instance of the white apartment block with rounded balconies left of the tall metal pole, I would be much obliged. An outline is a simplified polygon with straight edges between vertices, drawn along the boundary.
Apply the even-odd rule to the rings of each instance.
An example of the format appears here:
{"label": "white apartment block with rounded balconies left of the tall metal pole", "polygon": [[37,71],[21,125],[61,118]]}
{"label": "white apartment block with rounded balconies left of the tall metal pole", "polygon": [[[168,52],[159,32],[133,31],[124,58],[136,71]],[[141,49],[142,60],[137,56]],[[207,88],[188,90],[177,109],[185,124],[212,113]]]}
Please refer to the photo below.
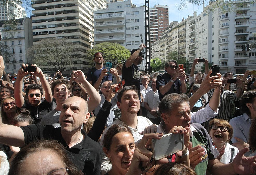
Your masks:
{"label": "white apartment block with rounded balconies left of the tall metal pole", "polygon": [[[140,33],[145,42],[144,7],[132,2],[113,2],[107,9],[94,11],[95,44],[114,42],[131,51],[141,44]],[[142,64],[138,65],[140,70]]]}

